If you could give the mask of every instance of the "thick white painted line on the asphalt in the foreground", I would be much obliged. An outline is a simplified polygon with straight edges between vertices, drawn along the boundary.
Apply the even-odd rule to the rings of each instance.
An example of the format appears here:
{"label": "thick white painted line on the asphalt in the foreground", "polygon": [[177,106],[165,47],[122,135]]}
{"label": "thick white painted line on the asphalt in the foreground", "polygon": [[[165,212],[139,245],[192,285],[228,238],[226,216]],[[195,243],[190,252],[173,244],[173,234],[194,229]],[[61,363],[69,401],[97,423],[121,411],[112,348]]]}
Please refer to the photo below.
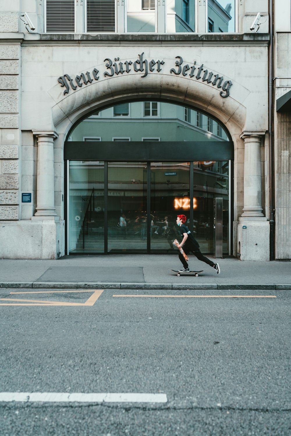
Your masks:
{"label": "thick white painted line on the asphalt in the foreground", "polygon": [[81,403],[166,403],[166,394],[82,393],[82,392],[0,392],[0,402],[81,402]]}

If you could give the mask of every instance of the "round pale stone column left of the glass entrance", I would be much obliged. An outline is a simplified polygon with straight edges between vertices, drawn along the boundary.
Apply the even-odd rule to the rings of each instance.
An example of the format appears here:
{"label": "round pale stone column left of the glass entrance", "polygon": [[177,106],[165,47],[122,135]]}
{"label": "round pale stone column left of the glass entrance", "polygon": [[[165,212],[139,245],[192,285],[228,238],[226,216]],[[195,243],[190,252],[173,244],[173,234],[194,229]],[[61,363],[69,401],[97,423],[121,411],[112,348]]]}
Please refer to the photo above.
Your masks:
{"label": "round pale stone column left of the glass entrance", "polygon": [[54,139],[53,130],[34,131],[38,138],[37,206],[32,219],[58,220],[55,212]]}

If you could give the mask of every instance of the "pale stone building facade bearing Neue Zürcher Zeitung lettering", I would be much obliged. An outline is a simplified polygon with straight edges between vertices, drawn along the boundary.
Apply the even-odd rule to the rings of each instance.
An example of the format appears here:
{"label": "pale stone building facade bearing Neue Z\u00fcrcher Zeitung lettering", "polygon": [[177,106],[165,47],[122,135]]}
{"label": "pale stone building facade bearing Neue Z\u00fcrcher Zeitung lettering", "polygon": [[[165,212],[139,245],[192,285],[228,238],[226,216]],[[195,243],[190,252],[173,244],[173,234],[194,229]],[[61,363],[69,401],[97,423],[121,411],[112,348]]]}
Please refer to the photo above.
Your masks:
{"label": "pale stone building facade bearing Neue Z\u00fcrcher Zeitung lettering", "polygon": [[[113,3],[110,32],[86,32],[78,10],[74,29],[45,31],[43,1],[10,2],[0,10],[0,256],[55,259],[68,254],[64,147],[69,133],[96,111],[151,100],[201,111],[224,126],[233,144],[229,254],[269,260],[267,0],[259,5],[234,1],[227,9],[229,16],[235,14],[232,33],[209,32],[205,0],[191,3],[195,17],[187,33],[167,31],[167,14],[159,14],[167,2],[160,0],[154,2],[154,31],[129,33],[127,2]],[[255,33],[250,27],[259,6],[266,20]],[[35,30],[24,24],[24,11]],[[187,17],[187,10],[183,13]],[[288,31],[277,34],[278,72],[289,31],[290,20]],[[282,76],[288,75],[286,67]],[[282,80],[291,83],[277,81],[277,98],[288,91]],[[289,131],[287,112],[276,112],[278,259],[291,257]]]}

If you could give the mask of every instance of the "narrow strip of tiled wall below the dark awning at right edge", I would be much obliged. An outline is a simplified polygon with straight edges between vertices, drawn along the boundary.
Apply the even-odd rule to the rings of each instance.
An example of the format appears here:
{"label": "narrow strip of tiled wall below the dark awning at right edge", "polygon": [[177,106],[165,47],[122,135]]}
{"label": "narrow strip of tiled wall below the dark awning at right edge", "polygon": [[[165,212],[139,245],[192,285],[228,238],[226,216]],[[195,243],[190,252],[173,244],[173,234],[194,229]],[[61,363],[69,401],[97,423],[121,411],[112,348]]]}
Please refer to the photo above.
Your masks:
{"label": "narrow strip of tiled wall below the dark awning at right edge", "polygon": [[291,114],[277,113],[275,140],[276,259],[291,259]]}

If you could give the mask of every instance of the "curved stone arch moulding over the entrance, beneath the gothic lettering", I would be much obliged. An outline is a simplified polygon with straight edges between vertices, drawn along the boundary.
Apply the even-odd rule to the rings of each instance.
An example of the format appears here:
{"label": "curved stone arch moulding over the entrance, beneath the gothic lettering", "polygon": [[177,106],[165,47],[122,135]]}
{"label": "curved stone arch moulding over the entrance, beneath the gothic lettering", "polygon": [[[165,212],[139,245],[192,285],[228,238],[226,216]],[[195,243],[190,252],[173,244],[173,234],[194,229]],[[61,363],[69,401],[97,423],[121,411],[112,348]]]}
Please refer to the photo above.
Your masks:
{"label": "curved stone arch moulding over the entrance, beneath the gothic lettering", "polygon": [[[172,63],[175,64],[175,61]],[[57,84],[48,92],[55,101],[52,123],[59,134],[56,146],[62,147],[72,126],[94,110],[125,101],[154,99],[209,113],[225,125],[236,148],[237,141],[242,142],[239,136],[246,122],[243,101],[250,92],[237,82],[233,82],[231,91],[228,97],[223,98],[221,89],[211,82],[164,73],[151,73],[146,78],[142,78],[141,74],[100,77],[99,81],[83,84],[75,90],[69,89],[66,95],[64,87]]]}

